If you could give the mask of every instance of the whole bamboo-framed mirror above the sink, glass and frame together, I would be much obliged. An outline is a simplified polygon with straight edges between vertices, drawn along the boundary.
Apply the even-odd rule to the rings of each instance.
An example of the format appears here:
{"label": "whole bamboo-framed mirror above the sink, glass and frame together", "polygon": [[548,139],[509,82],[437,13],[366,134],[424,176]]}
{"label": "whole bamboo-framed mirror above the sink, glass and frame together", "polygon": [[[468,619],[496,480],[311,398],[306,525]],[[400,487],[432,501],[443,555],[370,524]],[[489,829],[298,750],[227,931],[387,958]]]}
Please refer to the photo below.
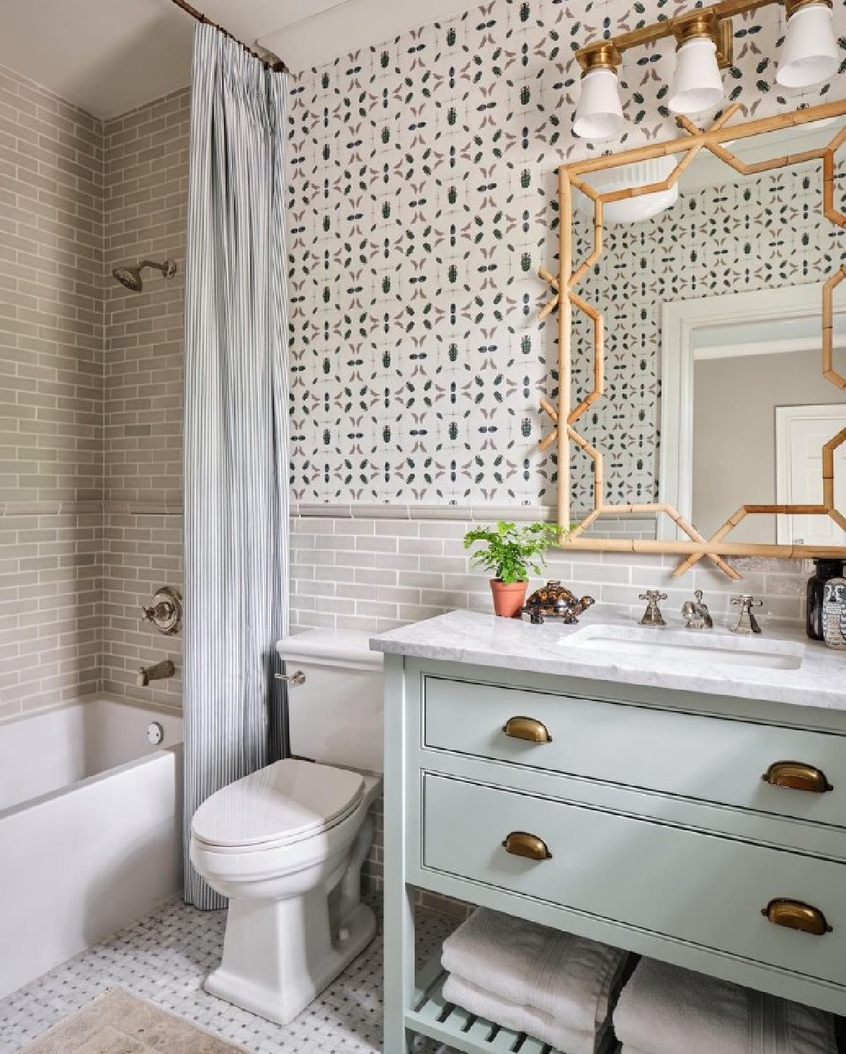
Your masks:
{"label": "whole bamboo-framed mirror above the sink, glass and frame together", "polygon": [[[558,170],[560,268],[540,272],[540,316],[557,309],[559,385],[540,448],[557,452],[558,523],[577,524],[566,548],[674,553],[675,574],[706,559],[732,578],[732,557],[846,558],[846,101],[743,123],[737,109]],[[788,305],[810,302],[803,330]],[[764,351],[785,354],[753,363]],[[711,392],[695,411],[694,388]]]}

